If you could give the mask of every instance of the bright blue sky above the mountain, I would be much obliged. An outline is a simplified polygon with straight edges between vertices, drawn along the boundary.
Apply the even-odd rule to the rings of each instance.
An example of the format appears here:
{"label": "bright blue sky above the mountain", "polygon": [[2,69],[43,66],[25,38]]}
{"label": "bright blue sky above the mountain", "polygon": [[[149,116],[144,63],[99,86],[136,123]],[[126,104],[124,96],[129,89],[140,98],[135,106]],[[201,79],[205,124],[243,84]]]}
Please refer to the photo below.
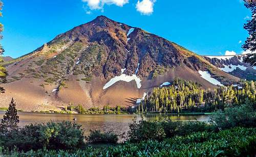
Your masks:
{"label": "bright blue sky above the mountain", "polygon": [[[250,17],[242,0],[2,0],[4,56],[30,53],[56,35],[105,15],[200,55],[241,54]],[[99,2],[99,3],[98,3]],[[241,43],[240,43],[241,42]]]}

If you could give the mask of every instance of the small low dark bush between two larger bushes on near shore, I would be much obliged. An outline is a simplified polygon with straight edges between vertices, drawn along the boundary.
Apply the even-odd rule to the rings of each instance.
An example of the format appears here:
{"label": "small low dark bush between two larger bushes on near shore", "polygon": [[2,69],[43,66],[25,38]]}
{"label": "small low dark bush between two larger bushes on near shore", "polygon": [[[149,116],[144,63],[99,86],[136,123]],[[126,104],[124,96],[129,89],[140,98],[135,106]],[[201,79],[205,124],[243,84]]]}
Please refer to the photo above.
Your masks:
{"label": "small low dark bush between two larger bushes on near shore", "polygon": [[90,136],[87,138],[89,143],[111,143],[116,144],[118,136],[115,133],[101,133],[100,130],[91,130]]}

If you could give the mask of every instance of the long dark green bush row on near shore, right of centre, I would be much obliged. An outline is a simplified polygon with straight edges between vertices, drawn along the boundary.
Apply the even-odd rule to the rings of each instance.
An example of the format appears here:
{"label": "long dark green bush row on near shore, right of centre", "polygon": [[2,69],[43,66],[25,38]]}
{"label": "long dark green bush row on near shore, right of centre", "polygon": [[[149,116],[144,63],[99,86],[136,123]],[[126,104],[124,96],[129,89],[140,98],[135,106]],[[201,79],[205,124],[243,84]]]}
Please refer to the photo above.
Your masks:
{"label": "long dark green bush row on near shore, right of centre", "polygon": [[128,137],[130,142],[140,142],[141,140],[157,140],[161,141],[165,138],[174,136],[185,136],[195,132],[212,132],[217,127],[213,124],[199,121],[134,121],[130,124]]}

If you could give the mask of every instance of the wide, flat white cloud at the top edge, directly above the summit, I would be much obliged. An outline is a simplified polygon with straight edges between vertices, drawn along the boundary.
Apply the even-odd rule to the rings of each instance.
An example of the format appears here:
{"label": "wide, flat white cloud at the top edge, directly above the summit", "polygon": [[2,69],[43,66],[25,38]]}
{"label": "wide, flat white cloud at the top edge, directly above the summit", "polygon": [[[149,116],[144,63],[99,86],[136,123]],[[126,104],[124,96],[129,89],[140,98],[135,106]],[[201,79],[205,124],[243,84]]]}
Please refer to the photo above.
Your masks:
{"label": "wide, flat white cloud at the top edge, directly above the summit", "polygon": [[129,0],[82,0],[82,2],[87,3],[91,10],[99,10],[103,9],[105,4],[122,7],[123,5],[129,3]]}

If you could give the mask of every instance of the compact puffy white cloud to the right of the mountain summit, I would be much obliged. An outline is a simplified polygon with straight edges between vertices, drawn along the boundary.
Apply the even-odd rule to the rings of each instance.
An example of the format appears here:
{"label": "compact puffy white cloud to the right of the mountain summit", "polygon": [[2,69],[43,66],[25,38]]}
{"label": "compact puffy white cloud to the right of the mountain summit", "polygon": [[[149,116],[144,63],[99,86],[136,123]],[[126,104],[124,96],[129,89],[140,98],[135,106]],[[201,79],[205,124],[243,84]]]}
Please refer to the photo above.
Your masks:
{"label": "compact puffy white cloud to the right of the mountain summit", "polygon": [[140,0],[136,4],[136,9],[143,15],[151,15],[154,12],[155,0]]}

